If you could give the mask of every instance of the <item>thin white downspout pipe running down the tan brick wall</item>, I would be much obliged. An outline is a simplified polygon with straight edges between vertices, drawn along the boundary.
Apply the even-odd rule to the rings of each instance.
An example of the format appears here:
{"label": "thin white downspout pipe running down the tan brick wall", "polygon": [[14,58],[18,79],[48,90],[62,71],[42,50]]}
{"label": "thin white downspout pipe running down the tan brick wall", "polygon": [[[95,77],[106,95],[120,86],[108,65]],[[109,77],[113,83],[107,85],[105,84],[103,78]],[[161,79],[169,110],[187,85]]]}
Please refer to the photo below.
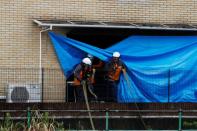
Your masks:
{"label": "thin white downspout pipe running down the tan brick wall", "polygon": [[[39,55],[39,84],[42,85],[42,33],[52,30],[52,26],[49,26],[40,31],[40,55]],[[42,88],[42,87],[41,87]]]}

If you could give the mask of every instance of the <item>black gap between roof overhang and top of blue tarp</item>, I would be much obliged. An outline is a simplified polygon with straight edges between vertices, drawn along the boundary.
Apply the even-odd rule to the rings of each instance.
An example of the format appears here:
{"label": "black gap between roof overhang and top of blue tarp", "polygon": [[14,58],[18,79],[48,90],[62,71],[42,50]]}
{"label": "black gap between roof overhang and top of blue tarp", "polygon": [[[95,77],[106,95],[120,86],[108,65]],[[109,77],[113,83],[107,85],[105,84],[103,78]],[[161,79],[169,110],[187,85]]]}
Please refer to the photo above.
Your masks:
{"label": "black gap between roof overhang and top of blue tarp", "polygon": [[197,35],[195,31],[162,31],[162,30],[126,30],[126,29],[72,29],[67,36],[69,38],[94,45],[99,48],[108,48],[130,35],[149,36],[191,36]]}

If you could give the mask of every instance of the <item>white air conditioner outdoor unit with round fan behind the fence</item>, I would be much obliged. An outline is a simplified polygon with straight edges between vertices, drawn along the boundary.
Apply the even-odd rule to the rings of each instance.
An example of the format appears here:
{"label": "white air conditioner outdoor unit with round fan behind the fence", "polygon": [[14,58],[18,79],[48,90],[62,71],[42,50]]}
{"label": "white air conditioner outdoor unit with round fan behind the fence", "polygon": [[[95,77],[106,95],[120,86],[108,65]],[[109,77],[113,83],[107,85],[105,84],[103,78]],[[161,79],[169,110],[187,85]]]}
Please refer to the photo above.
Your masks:
{"label": "white air conditioner outdoor unit with round fan behind the fence", "polygon": [[8,103],[41,102],[39,84],[9,84],[6,101]]}

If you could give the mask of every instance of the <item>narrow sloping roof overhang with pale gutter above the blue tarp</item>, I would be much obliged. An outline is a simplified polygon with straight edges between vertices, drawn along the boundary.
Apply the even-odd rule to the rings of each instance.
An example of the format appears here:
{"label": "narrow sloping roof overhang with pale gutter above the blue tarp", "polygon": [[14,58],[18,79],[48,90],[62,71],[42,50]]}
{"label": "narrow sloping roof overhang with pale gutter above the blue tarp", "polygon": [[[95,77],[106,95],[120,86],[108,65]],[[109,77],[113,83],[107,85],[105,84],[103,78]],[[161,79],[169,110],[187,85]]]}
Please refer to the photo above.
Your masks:
{"label": "narrow sloping roof overhang with pale gutter above the blue tarp", "polygon": [[41,27],[65,28],[106,28],[106,29],[139,29],[139,30],[167,30],[167,31],[197,31],[197,25],[190,24],[155,24],[155,23],[113,23],[87,22],[68,20],[33,20]]}

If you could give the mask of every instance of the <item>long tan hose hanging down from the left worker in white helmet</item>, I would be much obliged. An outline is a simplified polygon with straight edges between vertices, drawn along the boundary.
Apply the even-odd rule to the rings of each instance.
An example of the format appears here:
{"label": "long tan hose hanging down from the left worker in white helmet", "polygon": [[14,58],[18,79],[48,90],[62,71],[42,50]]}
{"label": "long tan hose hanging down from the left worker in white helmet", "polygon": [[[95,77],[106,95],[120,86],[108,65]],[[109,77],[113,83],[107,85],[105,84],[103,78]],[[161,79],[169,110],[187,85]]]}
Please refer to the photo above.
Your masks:
{"label": "long tan hose hanging down from the left worker in white helmet", "polygon": [[92,115],[91,115],[91,112],[90,112],[90,105],[89,105],[89,102],[88,102],[88,96],[87,96],[87,90],[86,90],[86,82],[82,82],[82,86],[83,86],[85,102],[86,102],[86,106],[87,106],[87,110],[88,110],[88,115],[90,117],[90,124],[92,126],[92,130],[95,130],[94,123],[93,123],[93,120],[92,120]]}

